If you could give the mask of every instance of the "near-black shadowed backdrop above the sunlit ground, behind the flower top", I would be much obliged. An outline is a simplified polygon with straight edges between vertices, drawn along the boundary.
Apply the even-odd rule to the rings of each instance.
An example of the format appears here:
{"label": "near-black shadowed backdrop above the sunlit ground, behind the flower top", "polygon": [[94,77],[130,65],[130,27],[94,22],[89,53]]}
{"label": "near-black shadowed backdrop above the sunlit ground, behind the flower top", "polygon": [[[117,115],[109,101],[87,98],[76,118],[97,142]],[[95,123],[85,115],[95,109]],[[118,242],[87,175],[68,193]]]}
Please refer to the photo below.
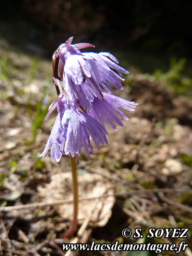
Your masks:
{"label": "near-black shadowed backdrop above the sunlit ground, behind the flower top", "polygon": [[1,36],[47,56],[73,35],[101,49],[190,58],[190,10],[183,1],[8,0],[1,3]]}

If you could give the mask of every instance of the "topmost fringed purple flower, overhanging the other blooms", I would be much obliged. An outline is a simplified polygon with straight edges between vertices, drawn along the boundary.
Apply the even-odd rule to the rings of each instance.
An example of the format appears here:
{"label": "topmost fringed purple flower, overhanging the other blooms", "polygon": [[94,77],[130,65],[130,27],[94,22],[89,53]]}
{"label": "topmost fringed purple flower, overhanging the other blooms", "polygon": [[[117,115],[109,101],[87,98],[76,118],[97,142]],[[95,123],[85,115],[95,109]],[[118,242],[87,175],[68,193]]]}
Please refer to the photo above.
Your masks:
{"label": "topmost fringed purple flower, overhanging the other blooms", "polygon": [[[62,44],[53,55],[53,60],[59,57],[59,87],[66,93],[68,103],[77,107],[78,98],[83,109],[89,110],[89,103],[93,102],[94,97],[103,100],[100,86],[108,93],[113,91],[111,85],[122,90],[119,79],[123,81],[122,73],[129,72],[117,65],[118,60],[112,54],[81,53],[79,49],[94,46],[89,43],[71,45],[72,40],[73,37]],[[56,85],[58,86],[58,81]]]}

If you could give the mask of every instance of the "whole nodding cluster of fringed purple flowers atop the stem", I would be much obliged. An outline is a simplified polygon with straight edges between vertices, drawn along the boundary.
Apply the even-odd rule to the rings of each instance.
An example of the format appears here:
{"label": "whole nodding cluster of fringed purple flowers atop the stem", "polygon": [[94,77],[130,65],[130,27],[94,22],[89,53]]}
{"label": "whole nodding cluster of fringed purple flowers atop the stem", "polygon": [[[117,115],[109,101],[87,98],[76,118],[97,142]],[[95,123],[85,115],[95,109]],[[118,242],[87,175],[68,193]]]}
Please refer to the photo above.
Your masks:
{"label": "whole nodding cluster of fringed purple flowers atop the stem", "polygon": [[[123,126],[120,118],[128,120],[119,107],[134,111],[137,103],[111,94],[113,87],[123,89],[122,73],[129,72],[118,65],[110,53],[81,53],[80,49],[94,47],[89,43],[72,45],[73,37],[60,45],[53,54],[53,81],[58,98],[50,107],[47,117],[57,107],[57,118],[44,151],[51,146],[51,159],[58,162],[62,155],[81,154],[82,145],[90,158],[91,139],[99,150],[99,143],[107,144],[106,128]],[[47,118],[46,117],[46,118]],[[89,151],[90,150],[90,151]]]}

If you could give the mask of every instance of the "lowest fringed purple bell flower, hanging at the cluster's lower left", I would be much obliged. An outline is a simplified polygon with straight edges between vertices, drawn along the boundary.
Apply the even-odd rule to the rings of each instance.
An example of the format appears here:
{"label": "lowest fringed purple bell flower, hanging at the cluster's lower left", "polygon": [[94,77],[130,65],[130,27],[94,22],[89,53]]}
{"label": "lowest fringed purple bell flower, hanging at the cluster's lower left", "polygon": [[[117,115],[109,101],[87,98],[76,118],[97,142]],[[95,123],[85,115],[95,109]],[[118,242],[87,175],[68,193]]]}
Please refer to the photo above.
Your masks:
{"label": "lowest fringed purple bell flower, hanging at the cluster's lower left", "polygon": [[61,159],[62,154],[71,154],[72,157],[76,156],[78,159],[78,155],[81,155],[82,145],[85,153],[90,158],[89,148],[91,153],[94,153],[90,138],[98,150],[100,150],[99,143],[102,145],[108,144],[107,131],[93,117],[67,104],[65,96],[60,98],[56,104],[57,118],[40,157],[46,155],[51,144],[51,160],[56,160],[57,162]]}

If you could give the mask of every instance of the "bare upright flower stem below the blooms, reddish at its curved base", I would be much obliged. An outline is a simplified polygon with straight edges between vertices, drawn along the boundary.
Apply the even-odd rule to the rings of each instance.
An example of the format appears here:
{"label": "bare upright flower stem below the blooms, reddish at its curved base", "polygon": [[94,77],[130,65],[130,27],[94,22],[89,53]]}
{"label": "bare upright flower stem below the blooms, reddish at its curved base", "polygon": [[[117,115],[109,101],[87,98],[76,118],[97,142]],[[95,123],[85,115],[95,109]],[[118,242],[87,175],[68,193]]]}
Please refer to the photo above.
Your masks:
{"label": "bare upright flower stem below the blooms, reddish at its curved base", "polygon": [[78,213],[78,187],[77,187],[77,172],[76,172],[76,163],[75,158],[71,156],[71,170],[73,176],[73,202],[74,202],[74,210],[73,210],[73,222],[69,229],[60,235],[62,238],[70,237],[74,234],[77,229],[77,213]]}

